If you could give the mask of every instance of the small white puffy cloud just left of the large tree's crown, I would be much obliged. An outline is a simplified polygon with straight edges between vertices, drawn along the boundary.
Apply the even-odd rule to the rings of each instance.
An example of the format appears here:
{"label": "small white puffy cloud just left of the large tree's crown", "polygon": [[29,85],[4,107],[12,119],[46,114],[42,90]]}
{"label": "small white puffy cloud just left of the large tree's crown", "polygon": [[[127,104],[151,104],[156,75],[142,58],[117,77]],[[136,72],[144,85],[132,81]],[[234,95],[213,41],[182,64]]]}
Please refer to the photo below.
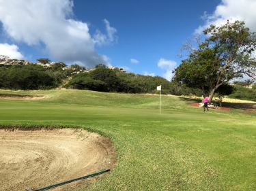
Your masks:
{"label": "small white puffy cloud just left of the large tree's crown", "polygon": [[171,81],[171,78],[173,77],[173,70],[175,67],[177,67],[177,63],[173,60],[165,60],[165,58],[160,58],[160,60],[158,60],[158,67],[166,70],[163,76],[167,80]]}

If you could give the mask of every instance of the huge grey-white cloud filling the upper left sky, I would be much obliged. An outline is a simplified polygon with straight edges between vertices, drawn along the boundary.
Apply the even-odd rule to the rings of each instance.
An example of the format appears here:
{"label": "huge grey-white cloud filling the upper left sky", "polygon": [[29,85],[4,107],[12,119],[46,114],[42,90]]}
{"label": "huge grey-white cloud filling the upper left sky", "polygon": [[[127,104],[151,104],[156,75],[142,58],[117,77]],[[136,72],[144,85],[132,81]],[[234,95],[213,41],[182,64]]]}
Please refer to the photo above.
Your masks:
{"label": "huge grey-white cloud filling the upper left sky", "polygon": [[115,28],[104,20],[107,35],[99,44],[89,34],[87,23],[71,18],[72,7],[71,0],[0,0],[0,21],[12,41],[43,46],[51,60],[76,60],[85,67],[110,65],[109,58],[98,54],[95,46],[115,41]]}

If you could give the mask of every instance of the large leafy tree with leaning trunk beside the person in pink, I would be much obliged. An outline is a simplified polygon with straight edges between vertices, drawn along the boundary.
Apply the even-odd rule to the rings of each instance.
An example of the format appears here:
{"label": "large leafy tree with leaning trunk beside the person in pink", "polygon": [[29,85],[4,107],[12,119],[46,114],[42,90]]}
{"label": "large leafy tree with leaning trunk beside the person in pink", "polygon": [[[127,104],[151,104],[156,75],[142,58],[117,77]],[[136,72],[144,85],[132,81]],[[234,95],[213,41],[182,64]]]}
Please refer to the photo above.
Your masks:
{"label": "large leafy tree with leaning trunk beside the person in pink", "polygon": [[203,31],[205,41],[175,69],[173,80],[208,90],[210,102],[219,86],[248,75],[255,79],[255,33],[242,21],[229,22]]}

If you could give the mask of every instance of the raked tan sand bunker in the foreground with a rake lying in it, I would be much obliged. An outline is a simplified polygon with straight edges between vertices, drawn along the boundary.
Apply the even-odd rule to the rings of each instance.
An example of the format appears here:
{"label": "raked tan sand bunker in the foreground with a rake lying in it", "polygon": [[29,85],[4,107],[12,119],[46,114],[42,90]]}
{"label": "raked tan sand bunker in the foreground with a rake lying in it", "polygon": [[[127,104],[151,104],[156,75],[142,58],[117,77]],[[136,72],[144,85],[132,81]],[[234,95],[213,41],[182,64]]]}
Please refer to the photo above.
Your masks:
{"label": "raked tan sand bunker in the foreground with a rake lying in it", "polygon": [[[0,129],[0,190],[33,190],[115,167],[109,139],[81,129]],[[89,181],[51,190],[83,190]]]}

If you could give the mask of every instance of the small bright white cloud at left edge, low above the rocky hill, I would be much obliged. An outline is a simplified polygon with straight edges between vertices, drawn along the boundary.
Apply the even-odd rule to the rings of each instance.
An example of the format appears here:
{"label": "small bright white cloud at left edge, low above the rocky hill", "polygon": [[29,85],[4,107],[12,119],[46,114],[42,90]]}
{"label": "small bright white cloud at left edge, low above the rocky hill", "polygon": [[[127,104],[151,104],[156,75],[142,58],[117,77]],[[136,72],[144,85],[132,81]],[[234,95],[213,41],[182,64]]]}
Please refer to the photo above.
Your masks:
{"label": "small bright white cloud at left edge, low above the rocky hill", "polygon": [[18,46],[12,44],[0,44],[0,54],[12,59],[24,59],[23,54],[18,52]]}

